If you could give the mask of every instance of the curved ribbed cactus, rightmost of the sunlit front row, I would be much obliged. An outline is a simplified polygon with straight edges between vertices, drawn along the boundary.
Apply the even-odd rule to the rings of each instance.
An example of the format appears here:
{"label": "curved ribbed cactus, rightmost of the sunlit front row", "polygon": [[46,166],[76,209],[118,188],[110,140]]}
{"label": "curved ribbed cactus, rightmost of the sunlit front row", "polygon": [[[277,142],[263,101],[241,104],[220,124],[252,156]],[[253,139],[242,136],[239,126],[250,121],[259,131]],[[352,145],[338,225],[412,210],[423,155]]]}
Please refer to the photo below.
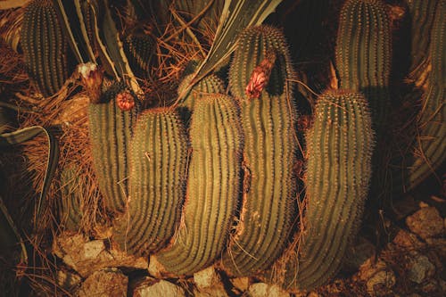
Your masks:
{"label": "curved ribbed cactus, rightmost of the sunlit front row", "polygon": [[314,289],[335,276],[359,231],[374,147],[364,96],[346,90],[320,95],[306,140],[305,231],[283,284],[293,291]]}

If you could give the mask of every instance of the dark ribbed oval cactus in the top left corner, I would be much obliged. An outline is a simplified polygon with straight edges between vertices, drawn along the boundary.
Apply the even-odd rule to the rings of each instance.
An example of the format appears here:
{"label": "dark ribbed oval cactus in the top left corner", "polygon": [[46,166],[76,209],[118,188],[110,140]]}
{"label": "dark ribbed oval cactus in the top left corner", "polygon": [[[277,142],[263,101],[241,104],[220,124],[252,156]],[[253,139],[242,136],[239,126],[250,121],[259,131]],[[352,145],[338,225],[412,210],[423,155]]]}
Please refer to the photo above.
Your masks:
{"label": "dark ribbed oval cactus in the top left corner", "polygon": [[54,95],[68,78],[67,42],[51,0],[33,0],[25,9],[21,48],[29,76],[40,92]]}

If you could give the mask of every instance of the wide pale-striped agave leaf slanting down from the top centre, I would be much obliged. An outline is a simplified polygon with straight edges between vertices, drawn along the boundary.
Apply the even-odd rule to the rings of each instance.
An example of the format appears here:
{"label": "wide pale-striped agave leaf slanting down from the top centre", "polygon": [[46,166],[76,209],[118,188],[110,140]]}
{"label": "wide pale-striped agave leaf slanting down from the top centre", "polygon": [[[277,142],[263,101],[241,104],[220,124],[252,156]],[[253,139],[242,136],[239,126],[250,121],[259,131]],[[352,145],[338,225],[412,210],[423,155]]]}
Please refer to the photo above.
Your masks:
{"label": "wide pale-striped agave leaf slanting down from the top centre", "polygon": [[282,0],[226,0],[211,50],[195,71],[189,86],[178,95],[178,101],[183,100],[194,84],[229,57],[235,49],[236,38],[240,31],[260,25],[281,2]]}

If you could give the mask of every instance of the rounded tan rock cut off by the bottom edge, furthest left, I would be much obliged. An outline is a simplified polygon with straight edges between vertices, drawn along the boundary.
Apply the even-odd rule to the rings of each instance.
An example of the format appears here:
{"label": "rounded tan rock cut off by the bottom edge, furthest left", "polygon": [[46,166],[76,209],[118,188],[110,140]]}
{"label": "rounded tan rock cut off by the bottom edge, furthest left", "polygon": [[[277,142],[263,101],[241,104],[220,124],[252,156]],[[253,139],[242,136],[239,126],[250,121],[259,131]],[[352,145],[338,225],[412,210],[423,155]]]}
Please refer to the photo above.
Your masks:
{"label": "rounded tan rock cut off by the bottom edge, furthest left", "polygon": [[79,289],[79,297],[122,297],[127,296],[128,277],[120,270],[95,271],[88,276]]}

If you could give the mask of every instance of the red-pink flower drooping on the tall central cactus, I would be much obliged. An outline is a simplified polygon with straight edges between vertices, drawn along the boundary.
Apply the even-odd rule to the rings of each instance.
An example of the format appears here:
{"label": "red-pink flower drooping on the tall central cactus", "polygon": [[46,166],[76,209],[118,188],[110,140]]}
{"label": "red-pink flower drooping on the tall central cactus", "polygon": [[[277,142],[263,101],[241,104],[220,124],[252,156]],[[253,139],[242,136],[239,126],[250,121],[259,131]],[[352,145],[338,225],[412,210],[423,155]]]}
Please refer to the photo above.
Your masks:
{"label": "red-pink flower drooping on the tall central cactus", "polygon": [[261,92],[267,86],[271,70],[276,62],[276,53],[269,51],[259,65],[252,70],[251,78],[244,89],[244,94],[249,98],[259,98]]}

